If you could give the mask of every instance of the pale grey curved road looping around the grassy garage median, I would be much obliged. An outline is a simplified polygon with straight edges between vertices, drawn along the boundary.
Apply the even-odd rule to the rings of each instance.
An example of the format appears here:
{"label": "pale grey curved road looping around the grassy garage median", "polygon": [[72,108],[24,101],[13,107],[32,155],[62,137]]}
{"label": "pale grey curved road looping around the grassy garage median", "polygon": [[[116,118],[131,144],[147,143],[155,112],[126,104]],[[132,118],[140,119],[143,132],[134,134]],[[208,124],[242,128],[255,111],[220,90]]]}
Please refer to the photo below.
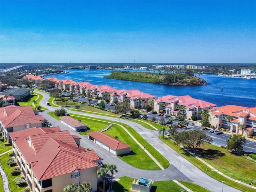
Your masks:
{"label": "pale grey curved road looping around the grassy garage median", "polygon": [[[41,106],[45,106],[44,102],[47,102],[49,99],[48,93],[34,91],[35,93],[42,94],[43,99],[40,101]],[[41,115],[44,116],[49,122],[52,123],[54,126],[60,126],[62,130],[69,130],[71,134],[78,135],[82,139],[80,141],[81,146],[94,149],[96,153],[104,159],[104,162],[111,162],[112,164],[116,164],[118,166],[118,173],[116,173],[115,178],[121,176],[128,176],[131,178],[148,178],[154,181],[158,180],[183,180],[188,182],[194,182],[209,191],[212,192],[222,192],[222,183],[211,178],[198,168],[196,168],[193,164],[188,162],[185,158],[180,156],[177,152],[175,152],[172,148],[164,144],[158,138],[158,132],[156,130],[149,130],[144,128],[140,124],[136,122],[131,122],[124,119],[117,119],[112,117],[100,116],[95,114],[84,114],[82,112],[74,112],[75,114],[81,114],[91,117],[97,117],[101,119],[115,121],[116,123],[122,122],[134,128],[149,144],[151,144],[160,154],[162,154],[168,161],[170,162],[170,166],[165,170],[157,170],[157,171],[150,171],[150,170],[140,170],[138,168],[134,168],[130,166],[126,162],[120,160],[118,157],[114,156],[110,152],[106,151],[105,149],[101,148],[100,146],[94,144],[90,140],[87,139],[87,136],[81,136],[78,132],[75,132],[65,126],[64,124],[60,123],[58,120],[53,118],[52,116],[48,115],[48,112],[54,111],[58,108],[52,106],[45,106],[48,108],[45,112],[40,112]],[[70,111],[71,113],[71,111]],[[143,162],[141,162],[143,163]],[[228,185],[224,184],[223,191],[225,192],[239,192],[235,188],[232,188]]]}

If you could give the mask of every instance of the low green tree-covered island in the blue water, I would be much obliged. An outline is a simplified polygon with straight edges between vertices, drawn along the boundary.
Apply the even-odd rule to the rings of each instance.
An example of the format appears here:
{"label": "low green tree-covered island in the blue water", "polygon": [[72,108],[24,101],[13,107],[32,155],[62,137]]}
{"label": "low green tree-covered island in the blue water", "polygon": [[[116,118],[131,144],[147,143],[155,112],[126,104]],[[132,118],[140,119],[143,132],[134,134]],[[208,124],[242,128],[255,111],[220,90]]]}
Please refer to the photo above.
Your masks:
{"label": "low green tree-covered island in the blue water", "polygon": [[168,72],[150,73],[111,71],[111,74],[109,76],[104,76],[104,78],[178,86],[194,86],[207,84],[206,81],[202,78],[194,76],[193,72],[190,70],[187,70],[184,74]]}

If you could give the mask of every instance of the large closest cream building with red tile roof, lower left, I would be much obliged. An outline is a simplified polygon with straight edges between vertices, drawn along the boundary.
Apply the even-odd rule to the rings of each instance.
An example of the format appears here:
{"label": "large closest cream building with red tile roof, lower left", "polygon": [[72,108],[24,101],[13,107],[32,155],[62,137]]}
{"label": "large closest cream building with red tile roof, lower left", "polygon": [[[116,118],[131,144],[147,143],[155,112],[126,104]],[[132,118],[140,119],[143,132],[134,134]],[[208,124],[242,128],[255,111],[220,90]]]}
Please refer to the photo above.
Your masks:
{"label": "large closest cream building with red tile roof, lower left", "polygon": [[80,137],[60,127],[34,127],[10,136],[14,159],[32,191],[60,192],[64,186],[84,181],[91,183],[93,192],[97,190],[102,158],[82,148]]}

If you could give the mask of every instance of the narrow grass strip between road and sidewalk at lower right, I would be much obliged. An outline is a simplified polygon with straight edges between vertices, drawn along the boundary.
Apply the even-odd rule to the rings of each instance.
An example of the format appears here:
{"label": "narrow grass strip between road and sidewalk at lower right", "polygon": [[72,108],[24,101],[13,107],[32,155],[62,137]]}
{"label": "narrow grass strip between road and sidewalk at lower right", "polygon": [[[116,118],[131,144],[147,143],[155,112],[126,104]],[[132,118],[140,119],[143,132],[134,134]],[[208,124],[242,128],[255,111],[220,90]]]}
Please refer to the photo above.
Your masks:
{"label": "narrow grass strip between road and sidewalk at lower right", "polygon": [[[202,172],[208,174],[210,177],[222,182],[224,181],[225,184],[232,186],[238,190],[241,190],[243,192],[255,192],[254,189],[246,187],[242,184],[239,184],[237,182],[234,182],[232,180],[229,180],[227,178],[225,178],[224,176],[218,174],[215,171],[209,170],[209,167],[206,166],[205,164],[203,164],[202,162],[200,162],[197,158],[195,158],[194,156],[192,156],[191,154],[189,154],[188,152],[184,151],[182,148],[180,148],[180,146],[176,146],[172,140],[164,138],[162,139],[162,136],[159,137],[164,143],[166,143],[168,146],[170,146],[172,149],[174,149],[176,152],[178,152],[181,156],[183,156],[184,158],[186,158],[188,161],[190,161],[192,164],[194,164],[194,166],[196,166],[197,168],[199,168]],[[232,158],[232,156],[230,156],[230,158]],[[249,161],[249,160],[248,160]],[[245,164],[247,163],[246,160],[243,161]],[[223,166],[224,167],[224,166]],[[208,169],[208,171],[206,171],[206,169]],[[255,170],[255,169],[254,169]],[[255,178],[255,177],[254,177]]]}

